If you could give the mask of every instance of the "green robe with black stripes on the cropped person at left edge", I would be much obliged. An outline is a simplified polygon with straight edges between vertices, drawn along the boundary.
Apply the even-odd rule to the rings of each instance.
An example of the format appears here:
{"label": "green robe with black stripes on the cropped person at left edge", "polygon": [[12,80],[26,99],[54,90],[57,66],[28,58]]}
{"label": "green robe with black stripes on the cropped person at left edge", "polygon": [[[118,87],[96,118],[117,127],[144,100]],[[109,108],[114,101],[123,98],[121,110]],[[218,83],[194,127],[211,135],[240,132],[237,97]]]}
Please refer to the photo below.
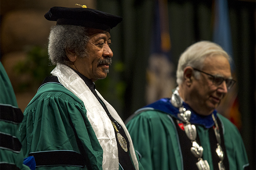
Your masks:
{"label": "green robe with black stripes on the cropped person at left edge", "polygon": [[[29,167],[23,164],[19,141],[18,128],[23,115],[18,108],[12,84],[2,63],[0,63],[0,74],[0,168],[28,170]],[[13,145],[8,145],[10,143]]]}

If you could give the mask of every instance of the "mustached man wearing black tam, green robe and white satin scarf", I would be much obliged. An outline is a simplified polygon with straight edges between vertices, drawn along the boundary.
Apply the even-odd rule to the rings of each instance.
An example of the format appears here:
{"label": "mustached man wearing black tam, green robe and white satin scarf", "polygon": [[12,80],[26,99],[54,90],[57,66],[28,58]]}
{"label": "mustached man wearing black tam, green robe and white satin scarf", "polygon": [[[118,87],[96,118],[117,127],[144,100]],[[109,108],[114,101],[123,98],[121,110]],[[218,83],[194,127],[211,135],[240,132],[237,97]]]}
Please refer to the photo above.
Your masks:
{"label": "mustached man wearing black tam, green robe and white satin scarf", "polygon": [[37,169],[139,170],[130,135],[95,89],[112,63],[110,29],[122,17],[89,8],[52,7],[48,54],[56,68],[24,111],[25,156]]}

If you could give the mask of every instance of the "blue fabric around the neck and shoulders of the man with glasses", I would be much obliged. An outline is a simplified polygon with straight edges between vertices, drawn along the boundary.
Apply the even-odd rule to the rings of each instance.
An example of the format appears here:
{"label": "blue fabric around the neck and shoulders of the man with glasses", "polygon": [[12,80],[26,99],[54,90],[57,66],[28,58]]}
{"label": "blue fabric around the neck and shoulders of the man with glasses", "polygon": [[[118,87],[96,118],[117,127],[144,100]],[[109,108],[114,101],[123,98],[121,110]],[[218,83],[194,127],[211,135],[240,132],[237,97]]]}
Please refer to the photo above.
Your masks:
{"label": "blue fabric around the neck and shoulders of the man with glasses", "polygon": [[[199,124],[199,125],[203,125],[206,128],[210,128],[214,125],[214,121],[213,118],[211,117],[211,114],[208,116],[202,116],[197,114],[196,112],[193,111],[193,109],[191,109],[189,107],[188,104],[183,102],[183,106],[184,108],[186,108],[187,110],[191,111],[191,118],[190,118],[190,123],[192,124]],[[170,115],[175,116],[178,119],[177,114],[179,113],[178,108],[174,107],[171,102],[170,102],[170,98],[162,98],[160,100],[157,100],[156,102],[149,104],[145,107],[151,107],[154,108],[156,110],[160,110],[162,112],[166,112]],[[143,107],[143,108],[145,108]],[[217,111],[214,110],[213,112],[215,118],[217,118]]]}

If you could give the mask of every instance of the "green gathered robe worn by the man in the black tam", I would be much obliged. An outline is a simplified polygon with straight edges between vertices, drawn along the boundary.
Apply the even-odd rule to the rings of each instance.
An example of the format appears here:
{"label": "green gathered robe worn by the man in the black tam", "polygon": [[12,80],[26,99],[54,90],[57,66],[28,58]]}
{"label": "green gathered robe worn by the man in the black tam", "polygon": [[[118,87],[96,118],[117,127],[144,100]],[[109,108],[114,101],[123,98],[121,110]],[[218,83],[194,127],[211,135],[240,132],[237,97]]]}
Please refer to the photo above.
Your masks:
{"label": "green gathered robe worn by the man in the black tam", "polygon": [[[39,88],[24,111],[20,135],[25,156],[39,151],[58,150],[82,154],[78,147],[78,141],[81,141],[92,169],[102,170],[103,150],[86,116],[86,108],[78,97],[61,84],[47,83]],[[87,168],[65,165],[37,169]]]}

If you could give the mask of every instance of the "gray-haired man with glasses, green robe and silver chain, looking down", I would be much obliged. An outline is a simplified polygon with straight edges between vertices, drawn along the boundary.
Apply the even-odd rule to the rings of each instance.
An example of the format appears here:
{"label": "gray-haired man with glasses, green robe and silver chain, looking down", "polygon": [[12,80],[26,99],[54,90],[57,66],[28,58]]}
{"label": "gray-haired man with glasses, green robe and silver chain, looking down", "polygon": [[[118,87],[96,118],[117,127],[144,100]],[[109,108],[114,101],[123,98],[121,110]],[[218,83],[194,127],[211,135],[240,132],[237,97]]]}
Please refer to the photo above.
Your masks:
{"label": "gray-haired man with glasses, green robe and silver chain, looking down", "polygon": [[191,45],[178,61],[178,86],[171,98],[145,106],[127,120],[144,169],[249,169],[239,131],[216,111],[236,83],[229,61],[215,43]]}

